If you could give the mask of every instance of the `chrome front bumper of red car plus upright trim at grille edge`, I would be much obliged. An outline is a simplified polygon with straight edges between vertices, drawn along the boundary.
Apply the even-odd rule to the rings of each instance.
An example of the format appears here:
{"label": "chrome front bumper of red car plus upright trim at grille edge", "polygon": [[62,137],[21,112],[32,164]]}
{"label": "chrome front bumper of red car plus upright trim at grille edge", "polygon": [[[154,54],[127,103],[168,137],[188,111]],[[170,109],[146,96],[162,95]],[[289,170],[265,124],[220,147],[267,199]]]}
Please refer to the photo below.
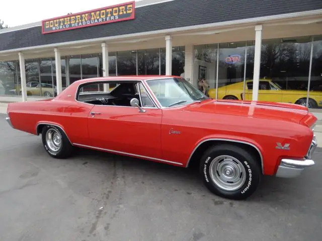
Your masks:
{"label": "chrome front bumper of red car plus upright trim at grille edge", "polygon": [[307,151],[304,160],[295,160],[295,159],[282,159],[281,164],[278,166],[276,176],[284,178],[293,178],[301,174],[301,172],[310,166],[313,166],[315,163],[311,159],[315,148],[317,147],[317,141],[315,135],[313,136],[311,145]]}

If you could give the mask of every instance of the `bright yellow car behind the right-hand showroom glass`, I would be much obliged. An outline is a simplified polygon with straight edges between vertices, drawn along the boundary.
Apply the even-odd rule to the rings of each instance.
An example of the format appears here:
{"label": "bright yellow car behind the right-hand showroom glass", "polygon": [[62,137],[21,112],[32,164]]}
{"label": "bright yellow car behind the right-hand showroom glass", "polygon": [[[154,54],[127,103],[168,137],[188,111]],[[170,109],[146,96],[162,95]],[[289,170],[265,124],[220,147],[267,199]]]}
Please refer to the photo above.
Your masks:
{"label": "bright yellow car behind the right-hand showroom glass", "polygon": [[[253,80],[246,80],[245,98],[243,96],[244,82],[237,82],[218,87],[218,99],[252,100]],[[209,97],[216,97],[216,89],[209,89]],[[295,103],[306,106],[307,90],[285,90],[271,80],[260,79],[258,100]],[[322,91],[310,91],[309,108],[322,107]]]}

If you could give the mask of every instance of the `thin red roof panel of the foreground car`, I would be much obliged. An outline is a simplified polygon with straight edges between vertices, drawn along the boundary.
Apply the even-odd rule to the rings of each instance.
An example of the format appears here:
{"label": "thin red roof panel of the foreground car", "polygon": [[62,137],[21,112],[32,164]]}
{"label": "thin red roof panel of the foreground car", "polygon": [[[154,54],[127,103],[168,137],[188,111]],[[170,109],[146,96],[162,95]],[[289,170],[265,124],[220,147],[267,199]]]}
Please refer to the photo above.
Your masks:
{"label": "thin red roof panel of the foreground car", "polygon": [[128,81],[128,80],[149,80],[149,79],[166,79],[166,78],[181,78],[175,75],[122,75],[122,76],[111,76],[111,77],[97,77],[76,80],[74,83],[83,84],[98,81]]}

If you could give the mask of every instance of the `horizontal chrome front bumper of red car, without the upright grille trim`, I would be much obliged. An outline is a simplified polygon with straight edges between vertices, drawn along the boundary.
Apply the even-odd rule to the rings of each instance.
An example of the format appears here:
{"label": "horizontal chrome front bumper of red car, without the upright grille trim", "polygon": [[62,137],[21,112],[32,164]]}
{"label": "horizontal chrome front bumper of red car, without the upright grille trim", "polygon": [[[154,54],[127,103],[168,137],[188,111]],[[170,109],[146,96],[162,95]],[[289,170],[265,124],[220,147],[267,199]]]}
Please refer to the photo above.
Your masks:
{"label": "horizontal chrome front bumper of red car, without the upright grille trim", "polygon": [[297,177],[305,168],[313,166],[314,164],[314,161],[311,159],[282,159],[281,164],[278,166],[276,176],[283,178]]}

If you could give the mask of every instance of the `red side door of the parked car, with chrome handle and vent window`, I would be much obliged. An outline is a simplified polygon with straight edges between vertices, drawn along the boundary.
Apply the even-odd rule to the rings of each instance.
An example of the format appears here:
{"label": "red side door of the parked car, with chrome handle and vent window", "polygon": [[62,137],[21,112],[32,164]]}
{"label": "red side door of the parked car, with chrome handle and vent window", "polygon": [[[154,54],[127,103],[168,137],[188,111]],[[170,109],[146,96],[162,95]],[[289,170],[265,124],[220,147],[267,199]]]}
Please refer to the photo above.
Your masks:
{"label": "red side door of the parked car, with chrome handle and vent window", "polygon": [[[141,83],[133,85],[136,86],[136,91],[141,90],[140,98],[148,96]],[[140,106],[141,103],[140,99]],[[88,116],[92,146],[160,159],[162,109],[155,107],[151,100],[147,103],[146,99],[142,108],[145,112],[140,112],[138,107],[132,106],[94,105]]]}

